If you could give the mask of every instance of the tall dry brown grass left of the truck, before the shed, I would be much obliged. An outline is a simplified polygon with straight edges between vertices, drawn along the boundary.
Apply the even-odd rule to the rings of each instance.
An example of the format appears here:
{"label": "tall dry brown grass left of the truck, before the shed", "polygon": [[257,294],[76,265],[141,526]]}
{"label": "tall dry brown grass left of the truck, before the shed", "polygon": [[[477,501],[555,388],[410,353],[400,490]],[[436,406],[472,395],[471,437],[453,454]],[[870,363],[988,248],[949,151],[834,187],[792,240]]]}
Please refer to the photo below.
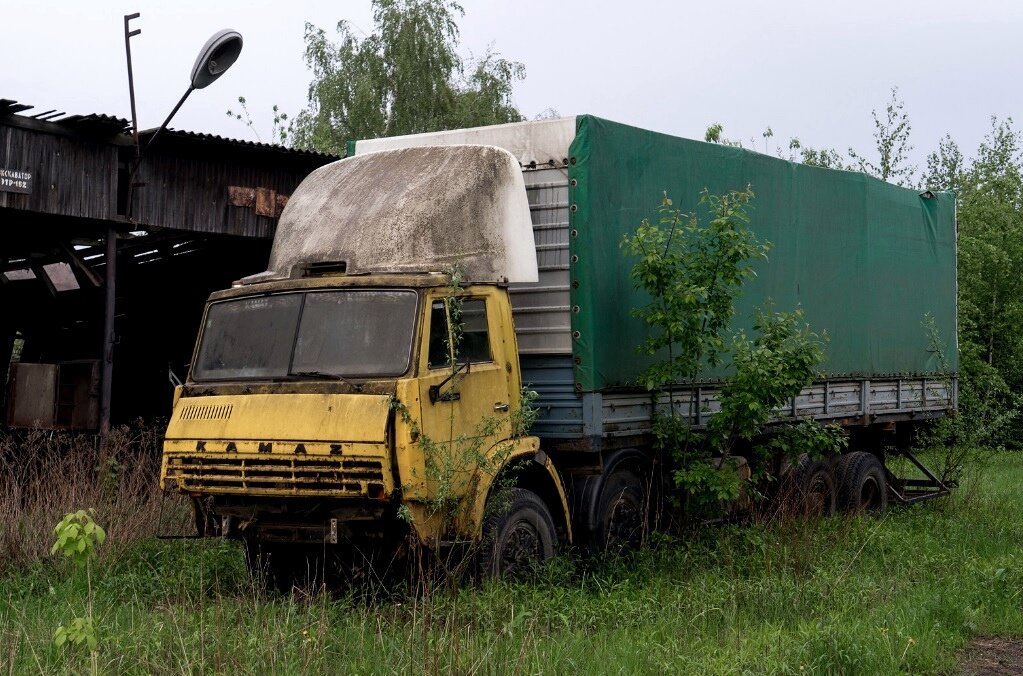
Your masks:
{"label": "tall dry brown grass left of the truck, before the shed", "polygon": [[181,498],[158,487],[160,432],[141,422],[115,427],[102,454],[91,435],[0,432],[0,572],[44,559],[54,525],[76,509],[96,510],[107,555],[161,529],[188,528]]}

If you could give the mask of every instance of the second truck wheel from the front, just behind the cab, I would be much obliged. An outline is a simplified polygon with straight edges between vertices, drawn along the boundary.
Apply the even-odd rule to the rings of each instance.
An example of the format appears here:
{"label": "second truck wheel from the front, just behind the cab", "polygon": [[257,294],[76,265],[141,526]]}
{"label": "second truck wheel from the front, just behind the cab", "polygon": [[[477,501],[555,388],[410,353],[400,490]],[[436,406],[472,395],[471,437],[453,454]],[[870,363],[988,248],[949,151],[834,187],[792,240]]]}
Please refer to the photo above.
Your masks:
{"label": "second truck wheel from the front, just behind the cab", "polygon": [[638,549],[647,532],[647,500],[642,479],[628,469],[616,471],[601,489],[596,503],[596,554]]}

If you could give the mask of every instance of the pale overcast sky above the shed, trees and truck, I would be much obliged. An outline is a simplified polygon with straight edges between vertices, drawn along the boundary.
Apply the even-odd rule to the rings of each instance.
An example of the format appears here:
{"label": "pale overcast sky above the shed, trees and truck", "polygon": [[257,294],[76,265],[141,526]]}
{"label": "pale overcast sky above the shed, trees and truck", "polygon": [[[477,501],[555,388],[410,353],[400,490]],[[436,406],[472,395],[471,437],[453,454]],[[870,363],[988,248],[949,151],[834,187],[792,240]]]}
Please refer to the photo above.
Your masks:
{"label": "pale overcast sky above the shed, trees and truck", "polygon": [[[711,123],[763,149],[872,147],[871,110],[899,88],[916,159],[945,133],[968,154],[992,115],[1023,102],[1023,3],[992,0],[463,0],[464,54],[488,46],[526,65],[516,103],[552,107],[703,138]],[[3,0],[0,98],[43,111],[130,117],[123,15],[140,11],[132,41],[139,125],[158,126],[187,86],[195,54],[221,28],[244,36],[241,57],[195,92],[172,126],[249,138],[225,110],[244,95],[264,140],[270,107],[306,100],[303,32],[347,19],[372,30],[368,0]]]}

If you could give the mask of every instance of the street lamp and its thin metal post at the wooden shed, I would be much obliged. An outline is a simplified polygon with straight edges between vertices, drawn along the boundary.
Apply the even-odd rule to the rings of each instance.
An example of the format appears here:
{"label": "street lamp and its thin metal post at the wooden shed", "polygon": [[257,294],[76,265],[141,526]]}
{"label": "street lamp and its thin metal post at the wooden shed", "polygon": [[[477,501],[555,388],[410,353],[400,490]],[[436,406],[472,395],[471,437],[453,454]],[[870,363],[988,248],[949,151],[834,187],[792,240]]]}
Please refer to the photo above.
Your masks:
{"label": "street lamp and its thin metal post at the wooden shed", "polygon": [[[142,32],[141,29],[132,30],[130,22],[139,17],[139,13],[125,15],[125,53],[128,59],[128,94],[131,98],[131,131],[135,144],[135,156],[132,160],[131,170],[128,172],[128,200],[125,217],[129,223],[134,223],[132,218],[133,193],[136,187],[135,174],[145,156],[145,152],[152,147],[160,132],[167,129],[171,119],[181,108],[185,99],[196,89],[205,89],[217,81],[220,76],[234,64],[241,53],[241,34],[237,31],[225,29],[218,31],[198,52],[195,63],[192,65],[189,76],[188,88],[184,95],[178,100],[174,109],[167,116],[164,123],[157,129],[145,147],[141,147],[138,139],[138,116],[135,111],[135,76],[131,64],[131,39]],[[103,365],[102,378],[99,391],[99,444],[102,450],[106,449],[106,444],[110,435],[110,393],[114,380],[114,346],[117,336],[114,330],[114,313],[117,300],[117,228],[113,225],[106,228],[106,299],[103,312]]]}

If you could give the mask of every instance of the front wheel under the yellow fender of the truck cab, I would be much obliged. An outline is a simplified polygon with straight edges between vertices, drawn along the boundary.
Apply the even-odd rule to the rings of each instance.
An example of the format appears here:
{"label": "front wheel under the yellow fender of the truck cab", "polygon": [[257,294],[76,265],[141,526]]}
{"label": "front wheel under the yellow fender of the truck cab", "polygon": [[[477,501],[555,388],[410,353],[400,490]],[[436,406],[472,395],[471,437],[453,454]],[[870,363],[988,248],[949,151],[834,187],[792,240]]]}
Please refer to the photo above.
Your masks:
{"label": "front wheel under the yellow fender of the truck cab", "polygon": [[543,500],[532,491],[513,488],[506,503],[483,523],[480,573],[488,578],[528,576],[554,555],[557,542],[554,520]]}

